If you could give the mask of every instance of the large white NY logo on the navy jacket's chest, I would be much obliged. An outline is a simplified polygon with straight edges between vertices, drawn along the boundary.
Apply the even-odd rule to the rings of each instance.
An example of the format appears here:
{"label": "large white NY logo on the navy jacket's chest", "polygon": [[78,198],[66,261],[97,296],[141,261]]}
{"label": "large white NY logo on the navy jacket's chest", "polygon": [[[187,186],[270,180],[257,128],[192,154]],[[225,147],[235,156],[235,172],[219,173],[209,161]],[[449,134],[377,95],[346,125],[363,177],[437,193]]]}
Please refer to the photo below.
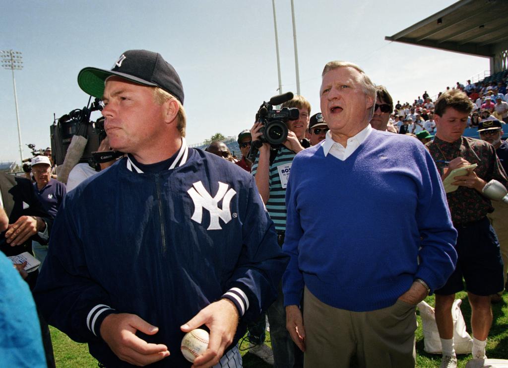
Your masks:
{"label": "large white NY logo on the navy jacket's chest", "polygon": [[[190,218],[191,220],[201,224],[203,218],[203,208],[210,212],[210,226],[208,226],[207,230],[221,230],[222,228],[219,225],[219,218],[223,220],[225,224],[231,221],[231,210],[229,209],[229,204],[236,192],[233,188],[228,190],[229,186],[226,183],[220,181],[218,183],[219,189],[213,198],[206,191],[201,181],[195,182],[193,184],[194,188],[190,188],[187,191],[194,202],[194,213]],[[220,209],[217,205],[221,199],[223,201],[222,209]]]}

